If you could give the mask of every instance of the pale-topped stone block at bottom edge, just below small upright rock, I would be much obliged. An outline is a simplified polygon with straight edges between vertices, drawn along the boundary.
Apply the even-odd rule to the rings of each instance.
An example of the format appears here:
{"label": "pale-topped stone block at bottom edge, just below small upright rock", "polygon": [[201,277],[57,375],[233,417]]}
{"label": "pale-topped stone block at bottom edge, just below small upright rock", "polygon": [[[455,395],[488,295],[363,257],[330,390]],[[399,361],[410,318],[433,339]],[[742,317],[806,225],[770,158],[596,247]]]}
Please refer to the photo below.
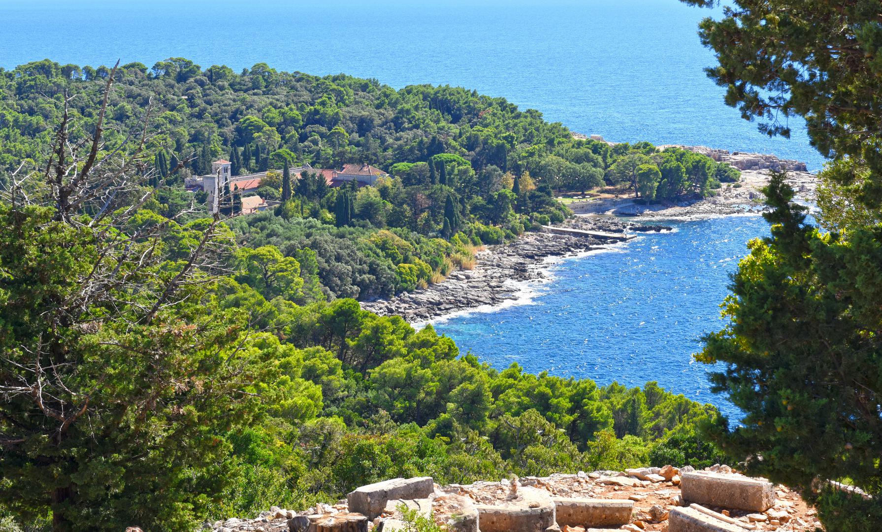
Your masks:
{"label": "pale-topped stone block at bottom edge, just below small upright rock", "polygon": [[475,508],[481,532],[544,532],[555,527],[555,504],[544,490],[521,488],[517,498]]}

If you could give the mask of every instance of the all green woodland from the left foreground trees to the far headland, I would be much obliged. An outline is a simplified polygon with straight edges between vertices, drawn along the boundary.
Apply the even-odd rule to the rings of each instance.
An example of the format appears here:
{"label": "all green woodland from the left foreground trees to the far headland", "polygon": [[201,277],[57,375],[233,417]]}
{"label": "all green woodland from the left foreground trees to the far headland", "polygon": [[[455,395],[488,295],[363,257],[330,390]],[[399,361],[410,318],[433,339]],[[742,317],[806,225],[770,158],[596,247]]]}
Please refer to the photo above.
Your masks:
{"label": "all green woodland from the left foreground trees to the far headland", "polygon": [[[188,530],[391,476],[721,460],[710,405],[494,369],[353,299],[562,220],[552,191],[577,178],[706,193],[727,172],[707,158],[572,139],[464,89],[184,60],[2,72],[0,139],[7,524]],[[277,211],[209,216],[183,179],[233,152],[392,177],[310,196],[283,171]]]}

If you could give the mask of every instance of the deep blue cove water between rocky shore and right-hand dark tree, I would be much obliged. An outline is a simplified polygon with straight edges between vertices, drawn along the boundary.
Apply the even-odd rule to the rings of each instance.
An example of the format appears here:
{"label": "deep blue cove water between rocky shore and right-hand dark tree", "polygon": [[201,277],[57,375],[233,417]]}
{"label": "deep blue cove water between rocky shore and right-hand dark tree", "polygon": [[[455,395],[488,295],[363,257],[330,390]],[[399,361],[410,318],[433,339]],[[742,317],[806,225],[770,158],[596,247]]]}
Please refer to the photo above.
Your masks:
{"label": "deep blue cove water between rocky shore and right-hand dark tree", "polygon": [[751,238],[768,235],[768,224],[759,215],[664,223],[676,232],[552,266],[553,281],[535,289],[532,304],[451,318],[436,329],[497,369],[516,362],[602,385],[657,380],[738,419],[736,408],[710,393],[712,367],[691,355],[704,333],[724,326],[719,305],[729,273]]}

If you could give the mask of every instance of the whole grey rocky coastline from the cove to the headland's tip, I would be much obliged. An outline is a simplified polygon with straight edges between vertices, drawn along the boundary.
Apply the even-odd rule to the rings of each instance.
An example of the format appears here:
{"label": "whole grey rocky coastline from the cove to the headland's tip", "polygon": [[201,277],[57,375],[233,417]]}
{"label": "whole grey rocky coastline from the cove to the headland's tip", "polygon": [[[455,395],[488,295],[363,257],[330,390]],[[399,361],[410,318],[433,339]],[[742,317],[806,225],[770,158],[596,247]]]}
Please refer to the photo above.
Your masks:
{"label": "whole grey rocky coastline from the cove to the headland's tip", "polygon": [[[759,214],[766,208],[761,189],[768,184],[770,170],[773,169],[788,171],[788,183],[796,191],[796,199],[808,203],[815,199],[818,179],[807,171],[804,162],[781,160],[766,154],[730,153],[706,146],[677,147],[705,154],[714,161],[729,163],[741,170],[741,181],[738,186],[724,184],[712,198],[684,200],[676,204],[629,204],[605,213],[621,218],[577,215],[560,226],[625,235],[669,230],[662,225],[665,220]],[[615,240],[553,234],[549,231],[527,233],[510,244],[488,246],[478,251],[474,269],[456,270],[445,281],[428,288],[390,299],[363,302],[362,308],[381,316],[399,315],[414,326],[465,312],[501,308],[528,299],[535,284],[548,281],[550,262],[619,245]]]}

